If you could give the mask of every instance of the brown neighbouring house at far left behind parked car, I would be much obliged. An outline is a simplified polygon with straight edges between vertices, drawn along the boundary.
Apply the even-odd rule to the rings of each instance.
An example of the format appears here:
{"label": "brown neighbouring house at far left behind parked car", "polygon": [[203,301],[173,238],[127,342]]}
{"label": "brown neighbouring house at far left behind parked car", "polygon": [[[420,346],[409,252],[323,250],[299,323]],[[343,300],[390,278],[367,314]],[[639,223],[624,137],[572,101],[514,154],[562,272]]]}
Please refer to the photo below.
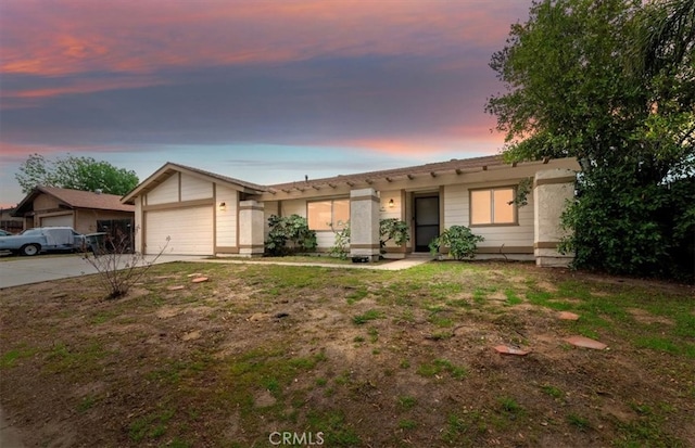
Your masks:
{"label": "brown neighbouring house at far left behind parked car", "polygon": [[84,234],[115,228],[127,233],[134,229],[135,206],[115,194],[39,185],[13,216],[24,218],[24,229],[67,226]]}

